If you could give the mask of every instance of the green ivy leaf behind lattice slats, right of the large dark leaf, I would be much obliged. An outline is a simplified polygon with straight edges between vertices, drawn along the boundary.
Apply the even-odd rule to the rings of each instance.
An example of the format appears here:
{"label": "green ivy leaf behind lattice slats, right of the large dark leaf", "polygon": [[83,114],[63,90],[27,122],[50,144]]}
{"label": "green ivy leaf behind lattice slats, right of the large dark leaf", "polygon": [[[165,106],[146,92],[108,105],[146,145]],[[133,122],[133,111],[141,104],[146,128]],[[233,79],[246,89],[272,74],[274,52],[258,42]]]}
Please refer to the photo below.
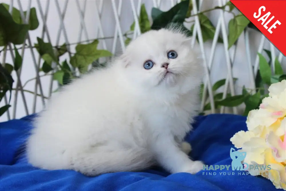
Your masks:
{"label": "green ivy leaf behind lattice slats, right of the large dark leaf", "polygon": [[[215,36],[215,27],[214,25],[211,23],[210,19],[208,19],[207,16],[205,16],[204,14],[200,13],[198,15],[198,19],[200,22],[200,28],[202,30],[202,39],[203,41],[207,41],[209,39],[213,39]],[[192,25],[191,27],[191,31],[193,31],[194,29],[194,25]],[[221,37],[219,37],[218,39],[219,42],[223,42],[223,39]]]}

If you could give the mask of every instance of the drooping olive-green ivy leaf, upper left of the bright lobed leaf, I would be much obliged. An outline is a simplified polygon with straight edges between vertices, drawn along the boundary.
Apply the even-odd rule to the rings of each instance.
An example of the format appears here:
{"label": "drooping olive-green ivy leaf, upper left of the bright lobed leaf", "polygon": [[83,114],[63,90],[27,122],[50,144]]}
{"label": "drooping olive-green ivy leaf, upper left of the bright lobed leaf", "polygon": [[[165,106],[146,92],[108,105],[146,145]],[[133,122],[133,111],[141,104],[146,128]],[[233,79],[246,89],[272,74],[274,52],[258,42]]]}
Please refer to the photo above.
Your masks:
{"label": "drooping olive-green ivy leaf, upper left of the bright lobed leaf", "polygon": [[51,65],[51,62],[54,61],[58,63],[58,59],[55,56],[53,46],[51,43],[45,43],[41,38],[37,37],[38,44],[35,44],[37,51],[41,55],[42,59]]}

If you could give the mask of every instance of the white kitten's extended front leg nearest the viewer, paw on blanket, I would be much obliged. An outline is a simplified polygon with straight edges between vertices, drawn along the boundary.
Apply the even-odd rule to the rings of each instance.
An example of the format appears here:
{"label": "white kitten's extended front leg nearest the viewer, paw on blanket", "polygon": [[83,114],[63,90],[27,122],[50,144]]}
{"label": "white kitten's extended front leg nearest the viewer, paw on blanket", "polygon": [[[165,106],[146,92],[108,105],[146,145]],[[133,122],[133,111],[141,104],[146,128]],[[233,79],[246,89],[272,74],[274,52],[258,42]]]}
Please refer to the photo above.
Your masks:
{"label": "white kitten's extended front leg nearest the viewer, paw on blanket", "polygon": [[172,137],[159,136],[152,144],[152,151],[158,163],[171,173],[189,172],[195,174],[202,170],[203,163],[192,161]]}

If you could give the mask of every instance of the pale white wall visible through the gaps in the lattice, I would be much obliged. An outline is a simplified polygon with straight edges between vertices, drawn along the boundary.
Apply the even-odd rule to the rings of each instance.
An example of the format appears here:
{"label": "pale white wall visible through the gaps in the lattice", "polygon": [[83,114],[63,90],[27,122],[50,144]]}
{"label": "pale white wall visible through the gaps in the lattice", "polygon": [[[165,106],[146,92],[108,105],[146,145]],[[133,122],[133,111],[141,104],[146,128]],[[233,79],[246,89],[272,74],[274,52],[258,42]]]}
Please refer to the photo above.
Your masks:
{"label": "pale white wall visible through the gaps in the lattice", "polygon": [[[118,9],[118,5],[122,5],[122,10],[120,13],[120,28],[122,33],[125,33],[126,31],[129,30],[130,25],[134,21],[134,15],[132,12],[132,0],[69,0],[67,3],[67,9],[65,13],[65,17],[63,20],[64,26],[65,26],[65,31],[67,34],[67,39],[69,43],[77,43],[78,41],[85,41],[87,39],[96,39],[98,37],[114,37],[115,35],[115,30],[116,30],[116,17],[114,13],[114,9],[112,8],[112,1],[116,5],[116,9]],[[0,0],[0,3],[7,3],[11,4],[13,2],[13,6],[19,9],[19,3],[21,4],[21,7],[23,11],[26,11],[29,7],[29,0]],[[59,4],[59,7],[61,9],[61,12],[63,11],[65,7],[65,0],[58,0],[57,1]],[[148,15],[151,15],[151,9],[152,7],[159,7],[162,11],[167,11],[176,3],[176,0],[134,0],[134,8],[137,10],[138,7],[140,7],[140,3],[144,3],[146,6],[146,10]],[[222,4],[220,4],[222,3]],[[226,3],[225,0],[204,0],[200,1],[200,11],[219,6],[219,5],[224,5]],[[48,11],[47,11],[47,31],[49,33],[49,37],[51,40],[52,45],[56,45],[57,42],[57,34],[60,29],[60,19],[59,19],[59,14],[57,11],[57,4],[56,0],[31,0],[31,7],[35,7],[37,10],[37,16],[39,19],[39,27],[34,30],[34,31],[29,31],[29,35],[31,38],[32,45],[34,43],[37,43],[37,38],[36,37],[41,37],[42,31],[43,31],[43,20],[41,19],[41,15],[39,13],[39,4],[45,13],[45,10],[47,10],[47,5],[48,5]],[[139,5],[138,5],[139,4]],[[81,29],[81,20],[80,20],[80,14],[79,14],[79,7],[80,9],[85,9],[84,11],[84,23],[86,26],[86,31],[88,34],[88,38],[86,37],[84,30]],[[85,7],[85,8],[84,8]],[[138,11],[137,11],[138,13]],[[237,12],[238,13],[238,12]],[[220,18],[220,11],[215,10],[206,13],[206,15],[210,18],[212,23],[217,26],[218,19]],[[224,13],[225,16],[225,23],[226,23],[226,30],[227,30],[227,23],[229,20],[233,17],[232,14],[230,13]],[[151,20],[151,18],[150,18]],[[190,27],[190,25],[186,26]],[[102,31],[100,31],[100,27],[102,27]],[[101,33],[102,32],[102,33]],[[239,38],[236,51],[235,47],[232,47],[229,50],[229,54],[235,55],[235,59],[232,63],[232,72],[233,72],[233,77],[238,78],[239,80],[235,83],[235,92],[237,94],[241,93],[243,85],[245,85],[247,88],[253,88],[253,79],[251,78],[251,72],[249,70],[249,64],[250,65],[255,65],[255,60],[257,57],[257,51],[259,48],[259,43],[261,43],[261,38],[263,37],[261,33],[254,31],[252,29],[248,30],[249,32],[249,44],[250,44],[250,61],[251,63],[248,62],[247,60],[247,51],[246,51],[246,46],[245,46],[245,35],[241,35]],[[79,34],[82,33],[81,39],[79,38]],[[220,32],[221,33],[221,32]],[[264,38],[264,37],[263,37]],[[45,34],[44,36],[44,41],[48,41],[47,35]],[[124,39],[125,40],[125,39]],[[59,44],[65,43],[65,38],[63,35],[63,31],[61,31],[61,35],[59,38]],[[248,42],[248,41],[247,41]],[[26,42],[27,43],[27,42]],[[105,47],[106,45],[106,47]],[[100,40],[100,45],[99,48],[104,49],[107,48],[109,51],[113,51],[115,55],[118,55],[121,53],[121,45],[120,45],[120,40],[117,38],[116,41],[116,46],[115,49],[113,48],[114,45],[114,38],[108,38],[105,40]],[[205,50],[205,55],[206,55],[206,63],[209,62],[209,57],[211,53],[211,46],[212,46],[212,41],[208,41],[203,44],[204,50]],[[18,47],[21,47],[19,45]],[[74,50],[75,45],[71,46],[71,52],[75,52]],[[268,42],[266,39],[264,42],[264,48],[269,49],[272,51],[273,55],[279,56],[279,52],[274,48],[271,43]],[[19,50],[19,53],[21,54],[21,50]],[[36,61],[38,62],[38,54],[35,49],[33,49],[33,53],[35,54]],[[263,55],[266,56],[266,54],[263,52]],[[284,71],[286,70],[286,61],[283,59],[282,55],[280,55],[280,61],[282,60],[283,62],[283,69]],[[61,57],[61,61],[64,59],[68,59],[68,55],[64,55]],[[0,55],[0,62],[3,63],[3,52]],[[13,64],[13,60],[11,57],[11,54],[9,51],[7,51],[7,55],[5,58],[5,63],[10,63]],[[41,63],[42,64],[42,63]],[[40,75],[43,75],[44,73],[40,73]],[[222,43],[218,43],[217,47],[215,49],[215,55],[214,59],[212,62],[212,67],[210,69],[210,82],[213,84],[219,79],[224,79],[227,77],[228,71],[227,71],[227,64],[226,64],[226,55],[225,55],[225,49]],[[24,49],[23,52],[23,68],[22,68],[22,73],[21,73],[21,82],[24,84],[27,80],[35,77],[35,67],[33,63],[33,57],[31,54],[30,49],[26,48]],[[17,79],[15,71],[13,71],[13,79]],[[41,77],[41,85],[43,87],[43,94],[45,96],[49,96],[49,83],[51,81],[50,76],[45,76]],[[16,85],[16,82],[14,83],[14,86]],[[27,85],[24,87],[25,90],[29,91],[34,91],[35,89],[35,80],[30,81],[27,83]],[[53,82],[53,90],[57,89],[57,84],[54,81]],[[219,91],[223,91],[223,88],[219,89]],[[38,93],[39,93],[39,88],[38,88]],[[8,95],[8,94],[7,94]],[[28,111],[29,114],[33,113],[33,94],[24,92],[25,99],[27,101],[27,106],[28,106]],[[12,98],[11,98],[11,105],[9,109],[10,113],[10,118],[13,118],[13,103],[15,101],[15,91],[12,91]],[[72,104],[72,103],[71,103]],[[0,107],[4,105],[4,102],[2,101],[0,104]],[[36,101],[36,107],[35,107],[35,112],[39,112],[40,110],[43,109],[43,105],[41,102],[40,97],[37,97]],[[238,109],[238,112],[240,112],[241,109]],[[232,110],[230,110],[232,112]],[[16,112],[15,112],[15,117],[20,118],[22,116],[25,116],[26,112],[24,109],[23,105],[23,100],[18,93],[17,96],[17,107],[16,107]],[[3,114],[0,118],[0,121],[5,121],[8,119],[7,114]]]}

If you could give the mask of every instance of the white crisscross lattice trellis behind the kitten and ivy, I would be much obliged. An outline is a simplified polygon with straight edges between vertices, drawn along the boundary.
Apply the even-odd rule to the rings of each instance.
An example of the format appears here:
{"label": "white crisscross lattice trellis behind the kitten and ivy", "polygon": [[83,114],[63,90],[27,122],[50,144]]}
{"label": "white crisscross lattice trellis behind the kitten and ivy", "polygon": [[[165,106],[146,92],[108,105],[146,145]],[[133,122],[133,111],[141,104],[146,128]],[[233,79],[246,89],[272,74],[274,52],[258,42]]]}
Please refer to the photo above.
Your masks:
{"label": "white crisscross lattice trellis behind the kitten and ivy", "polygon": [[[191,1],[193,3],[192,14],[199,13],[205,10],[206,7],[222,6],[226,3],[226,0],[200,0],[199,10],[197,10],[196,3],[198,1]],[[21,18],[25,23],[29,21],[30,8],[35,7],[40,22],[37,30],[29,31],[22,45],[20,55],[23,57],[23,65],[17,73],[13,73],[13,78],[15,79],[11,102],[13,107],[8,110],[5,116],[1,117],[1,120],[6,120],[40,111],[47,102],[46,98],[49,98],[57,88],[57,84],[51,76],[46,76],[39,72],[42,64],[41,58],[36,49],[33,48],[34,43],[36,43],[36,36],[45,39],[46,42],[50,42],[52,45],[66,43],[69,45],[67,46],[69,53],[73,52],[77,42],[100,39],[101,48],[108,49],[116,55],[125,49],[124,40],[126,37],[124,33],[129,30],[133,21],[135,21],[135,28],[132,39],[141,34],[138,15],[140,14],[142,3],[145,3],[148,15],[150,15],[152,7],[166,11],[177,2],[180,2],[180,0],[4,0],[3,2],[11,5],[9,7],[10,13],[12,12],[12,6],[19,9]],[[26,17],[23,12],[25,10],[27,10]],[[246,85],[248,88],[254,89],[255,76],[259,69],[257,52],[262,53],[263,48],[270,46],[272,58],[278,56],[279,62],[283,63],[284,70],[286,65],[283,62],[283,55],[267,39],[265,41],[265,37],[261,33],[252,31],[252,29],[246,30],[241,35],[239,42],[231,49],[228,49],[227,23],[231,19],[231,15],[226,14],[223,10],[217,10],[214,15],[209,16],[211,16],[210,19],[213,23],[216,23],[212,42],[203,43],[198,16],[192,17],[194,22],[193,36],[197,35],[198,37],[203,64],[206,69],[201,109],[205,105],[206,94],[208,93],[211,112],[216,112],[212,84],[218,79],[226,78],[225,86],[222,89],[223,98],[227,96],[228,92],[231,95],[236,95],[239,85],[234,83],[233,77],[237,77],[242,72],[244,75],[245,73],[247,74],[248,80],[245,81],[243,77],[238,76],[241,81],[240,85]],[[49,20],[49,17],[52,17],[53,20]],[[67,19],[71,18],[72,23],[70,20],[67,21]],[[188,23],[186,23],[187,25]],[[223,39],[223,44],[218,43],[219,35]],[[194,46],[195,41],[196,38],[193,38],[190,46]],[[27,44],[27,47],[24,46],[25,44]],[[0,57],[2,64],[14,63],[15,54],[11,44],[8,45]],[[67,54],[62,59],[69,59],[70,57],[71,55]],[[271,62],[273,71],[275,69],[274,61],[272,59]],[[241,66],[242,68],[239,68],[238,64],[244,65]],[[53,63],[53,66],[55,66],[55,63]],[[217,72],[216,70],[219,67],[224,68],[225,71],[219,70]],[[31,78],[30,75],[33,75],[35,80],[29,80],[23,84],[23,82]],[[33,95],[29,91],[33,92]],[[18,96],[18,94],[20,95]],[[8,103],[7,95],[4,97],[5,104]],[[219,112],[225,112],[225,108],[221,107]],[[232,112],[239,113],[239,107],[233,107]]]}

